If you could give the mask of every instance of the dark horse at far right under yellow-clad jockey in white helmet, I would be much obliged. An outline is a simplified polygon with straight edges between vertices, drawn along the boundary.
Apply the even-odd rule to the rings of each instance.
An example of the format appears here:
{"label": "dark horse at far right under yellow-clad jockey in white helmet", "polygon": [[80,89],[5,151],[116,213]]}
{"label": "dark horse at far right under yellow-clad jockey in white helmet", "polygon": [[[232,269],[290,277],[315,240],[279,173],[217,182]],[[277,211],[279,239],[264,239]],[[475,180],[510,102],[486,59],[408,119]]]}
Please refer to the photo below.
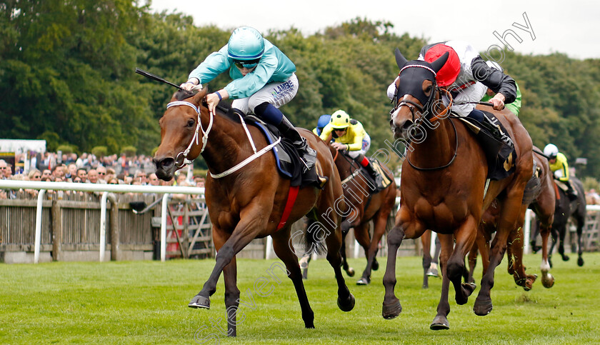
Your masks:
{"label": "dark horse at far right under yellow-clad jockey in white helmet", "polygon": [[[584,185],[575,176],[570,178],[571,186],[577,191],[577,199],[569,200],[566,192],[556,186],[556,210],[554,211],[554,224],[552,224],[552,244],[550,246],[549,263],[552,265],[552,252],[556,242],[559,242],[559,254],[563,261],[568,261],[570,258],[564,252],[564,237],[566,236],[567,223],[569,219],[573,219],[577,226],[577,265],[584,266],[584,258],[582,256],[584,249],[581,245],[581,236],[583,236],[584,226],[586,225],[586,196]],[[542,248],[543,249],[543,248]]]}

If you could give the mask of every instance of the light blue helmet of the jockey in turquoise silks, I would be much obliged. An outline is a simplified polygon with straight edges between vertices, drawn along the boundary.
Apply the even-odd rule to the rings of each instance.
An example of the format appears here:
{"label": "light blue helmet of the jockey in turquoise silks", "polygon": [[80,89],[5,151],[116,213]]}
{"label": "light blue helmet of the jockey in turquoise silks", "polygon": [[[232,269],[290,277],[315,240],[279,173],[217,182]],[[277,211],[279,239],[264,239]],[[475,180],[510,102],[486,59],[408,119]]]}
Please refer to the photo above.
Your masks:
{"label": "light blue helmet of the jockey in turquoise silks", "polygon": [[227,54],[234,60],[259,60],[264,54],[263,36],[250,26],[241,26],[235,29],[229,37]]}

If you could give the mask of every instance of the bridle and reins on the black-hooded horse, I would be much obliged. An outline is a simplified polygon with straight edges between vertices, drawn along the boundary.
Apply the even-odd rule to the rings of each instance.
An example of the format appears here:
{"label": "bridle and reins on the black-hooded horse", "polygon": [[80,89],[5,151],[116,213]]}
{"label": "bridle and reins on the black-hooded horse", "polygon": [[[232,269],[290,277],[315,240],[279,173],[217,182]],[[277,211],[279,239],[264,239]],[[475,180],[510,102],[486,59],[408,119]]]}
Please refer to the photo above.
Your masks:
{"label": "bridle and reins on the black-hooded horse", "polygon": [[[429,69],[428,66],[423,66],[423,65],[407,65],[404,66],[401,70],[400,73],[402,73],[402,71],[404,71],[404,69],[409,68],[409,67],[419,67],[419,68],[424,68],[424,69],[428,69],[429,71],[434,73],[435,76],[435,71],[433,71],[433,69]],[[400,73],[398,75],[400,75]],[[409,110],[411,111],[411,115],[412,115],[412,122],[414,124],[414,128],[418,128],[419,126],[421,126],[424,121],[429,121],[429,123],[433,123],[434,121],[438,121],[440,119],[448,119],[448,121],[450,121],[450,124],[452,125],[452,129],[454,129],[454,139],[455,139],[455,143],[454,143],[454,155],[452,156],[452,158],[450,159],[450,161],[444,165],[441,166],[435,166],[433,168],[421,168],[419,166],[415,166],[411,160],[409,159],[409,155],[406,154],[406,161],[409,162],[410,166],[413,169],[419,170],[419,171],[432,171],[432,170],[440,170],[440,169],[444,169],[447,168],[448,166],[450,166],[452,163],[454,163],[454,159],[456,159],[456,154],[459,151],[459,136],[458,136],[458,132],[456,131],[456,125],[454,124],[454,121],[452,121],[451,117],[456,117],[456,116],[451,116],[451,107],[452,107],[452,103],[453,103],[453,99],[452,99],[452,95],[450,94],[450,91],[448,91],[447,89],[443,89],[439,86],[437,86],[436,81],[432,81],[433,85],[432,85],[432,89],[431,89],[431,94],[429,94],[429,97],[426,101],[426,103],[424,105],[421,106],[421,104],[418,104],[414,101],[411,101],[409,99],[402,99],[401,101],[399,101],[399,94],[398,94],[398,89],[399,89],[399,82],[396,82],[396,91],[394,92],[394,99],[393,101],[396,103],[394,108],[391,109],[390,111],[390,115],[393,116],[396,111],[399,111],[399,109],[402,106],[407,106],[409,108]],[[439,102],[441,102],[441,97],[439,97],[439,99],[436,99],[436,94],[441,94],[442,92],[446,93],[446,96],[448,96],[449,98],[449,104],[448,106],[445,106],[444,110],[437,112],[435,110],[436,105],[439,104]],[[416,116],[416,111],[415,109],[417,109],[417,111],[419,113],[421,113],[421,116]],[[446,116],[447,114],[447,116]],[[393,120],[391,120],[393,121]]]}

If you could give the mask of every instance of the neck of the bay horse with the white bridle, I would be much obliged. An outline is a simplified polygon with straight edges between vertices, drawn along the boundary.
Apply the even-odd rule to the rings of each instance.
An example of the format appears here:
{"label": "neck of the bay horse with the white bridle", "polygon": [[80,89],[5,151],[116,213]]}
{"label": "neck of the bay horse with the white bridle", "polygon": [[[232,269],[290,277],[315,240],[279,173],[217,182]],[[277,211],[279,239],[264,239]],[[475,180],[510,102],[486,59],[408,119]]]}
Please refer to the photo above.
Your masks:
{"label": "neck of the bay horse with the white bridle", "polygon": [[[203,114],[202,126],[205,130],[209,121],[209,116]],[[244,154],[241,144],[249,139],[241,124],[217,114],[214,115],[213,121],[202,156],[209,170],[218,174],[239,162],[239,157]]]}

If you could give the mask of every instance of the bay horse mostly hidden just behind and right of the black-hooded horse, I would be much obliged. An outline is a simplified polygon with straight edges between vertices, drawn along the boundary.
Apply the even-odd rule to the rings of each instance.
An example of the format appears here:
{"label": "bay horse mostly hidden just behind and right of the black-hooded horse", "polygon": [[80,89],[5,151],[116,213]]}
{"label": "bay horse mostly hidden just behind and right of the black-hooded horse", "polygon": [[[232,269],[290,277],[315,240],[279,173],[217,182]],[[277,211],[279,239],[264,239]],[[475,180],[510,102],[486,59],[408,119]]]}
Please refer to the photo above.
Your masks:
{"label": "bay horse mostly hidden just behind and right of the black-hooded horse", "polygon": [[[556,194],[554,191],[554,179],[552,177],[552,172],[550,171],[548,160],[538,152],[539,149],[534,147],[534,159],[536,161],[536,166],[539,168],[536,171],[536,178],[538,179],[539,184],[535,184],[531,189],[526,189],[526,196],[524,196],[524,202],[526,202],[526,204],[521,206],[519,221],[517,221],[516,228],[509,234],[506,243],[509,274],[514,277],[515,283],[522,286],[525,291],[531,290],[537,278],[534,274],[526,274],[526,268],[523,264],[523,249],[526,241],[526,239],[524,239],[523,225],[525,221],[525,212],[528,208],[536,214],[536,221],[539,222],[541,230],[540,234],[543,242],[540,265],[541,282],[546,288],[554,286],[554,276],[550,274],[548,239],[554,221]],[[498,224],[499,221],[498,216],[499,207],[496,203],[492,203],[481,218],[481,224],[479,226],[480,231],[477,235],[476,244],[469,252],[468,281],[474,281],[473,271],[475,269],[478,248],[484,248],[484,251],[481,252],[481,261],[484,266],[484,274],[486,272],[489,265],[489,241],[491,239],[491,234],[496,231],[496,224]]]}

